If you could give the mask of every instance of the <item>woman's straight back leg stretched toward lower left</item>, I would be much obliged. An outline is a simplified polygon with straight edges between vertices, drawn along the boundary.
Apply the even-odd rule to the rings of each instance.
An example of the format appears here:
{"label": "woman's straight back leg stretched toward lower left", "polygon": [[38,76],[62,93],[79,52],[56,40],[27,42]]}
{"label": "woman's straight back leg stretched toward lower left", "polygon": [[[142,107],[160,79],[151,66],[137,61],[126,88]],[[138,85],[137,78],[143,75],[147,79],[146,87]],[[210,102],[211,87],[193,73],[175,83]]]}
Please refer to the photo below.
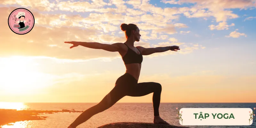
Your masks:
{"label": "woman's straight back leg stretched toward lower left", "polygon": [[118,100],[124,97],[119,86],[115,86],[97,105],[92,106],[80,114],[69,127],[76,128],[78,125],[90,119],[93,115],[103,112],[113,106]]}

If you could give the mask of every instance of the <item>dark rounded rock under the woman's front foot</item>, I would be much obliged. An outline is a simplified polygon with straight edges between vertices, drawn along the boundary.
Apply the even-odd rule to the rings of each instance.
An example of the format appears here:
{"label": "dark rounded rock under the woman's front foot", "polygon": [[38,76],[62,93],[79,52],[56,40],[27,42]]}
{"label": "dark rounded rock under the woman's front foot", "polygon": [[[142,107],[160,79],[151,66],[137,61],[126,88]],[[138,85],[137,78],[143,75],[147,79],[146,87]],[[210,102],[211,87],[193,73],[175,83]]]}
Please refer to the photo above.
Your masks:
{"label": "dark rounded rock under the woman's front foot", "polygon": [[167,124],[140,123],[140,122],[118,122],[102,125],[98,128],[188,128]]}

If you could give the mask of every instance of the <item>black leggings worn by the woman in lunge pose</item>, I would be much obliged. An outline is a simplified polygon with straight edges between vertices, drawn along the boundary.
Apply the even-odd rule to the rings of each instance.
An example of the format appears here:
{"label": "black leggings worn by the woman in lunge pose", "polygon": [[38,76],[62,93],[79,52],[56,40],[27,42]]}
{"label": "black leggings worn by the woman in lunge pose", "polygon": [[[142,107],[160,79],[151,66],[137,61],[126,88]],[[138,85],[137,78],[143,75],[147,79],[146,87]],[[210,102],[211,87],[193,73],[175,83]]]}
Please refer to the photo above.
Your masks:
{"label": "black leggings worn by the woman in lunge pose", "polygon": [[116,80],[115,87],[95,106],[88,108],[70,125],[76,128],[78,125],[90,119],[93,115],[100,113],[111,106],[124,96],[140,97],[153,93],[154,116],[159,116],[160,97],[162,86],[155,82],[138,81],[129,73],[125,73]]}

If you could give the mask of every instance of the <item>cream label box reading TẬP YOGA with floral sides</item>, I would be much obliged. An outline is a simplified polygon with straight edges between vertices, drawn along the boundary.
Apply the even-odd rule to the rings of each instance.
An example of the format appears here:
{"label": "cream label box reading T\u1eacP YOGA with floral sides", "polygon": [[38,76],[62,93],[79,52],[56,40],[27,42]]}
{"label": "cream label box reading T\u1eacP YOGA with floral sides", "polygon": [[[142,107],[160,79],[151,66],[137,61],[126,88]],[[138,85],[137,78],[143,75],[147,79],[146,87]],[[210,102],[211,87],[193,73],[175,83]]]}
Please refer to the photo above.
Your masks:
{"label": "cream label box reading T\u1eacP YOGA with floral sides", "polygon": [[251,108],[181,108],[176,116],[181,125],[251,125],[254,115]]}

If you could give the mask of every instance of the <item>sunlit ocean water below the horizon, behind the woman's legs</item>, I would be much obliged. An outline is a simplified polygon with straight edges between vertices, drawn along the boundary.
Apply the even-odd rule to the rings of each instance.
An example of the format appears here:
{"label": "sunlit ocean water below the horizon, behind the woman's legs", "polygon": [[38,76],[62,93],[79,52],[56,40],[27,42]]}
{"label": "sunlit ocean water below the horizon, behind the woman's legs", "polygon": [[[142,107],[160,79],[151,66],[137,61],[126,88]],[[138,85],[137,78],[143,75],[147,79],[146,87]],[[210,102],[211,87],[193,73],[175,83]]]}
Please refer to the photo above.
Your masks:
{"label": "sunlit ocean water below the horizon, behind the woman's legs", "polygon": [[[97,103],[16,103],[15,107],[31,110],[62,110],[75,109],[84,111]],[[7,109],[1,104],[0,108]],[[9,105],[13,106],[13,105]],[[18,108],[19,108],[18,107]],[[176,118],[176,107],[180,108],[255,108],[256,103],[160,103],[159,114],[171,125],[182,126]],[[10,108],[8,108],[10,109]],[[16,109],[16,108],[15,108]],[[67,128],[80,113],[59,112],[44,114],[46,120],[19,121],[12,125],[2,125],[2,128]],[[1,115],[0,115],[1,117]],[[1,117],[3,118],[3,117]],[[145,122],[153,123],[154,113],[152,103],[116,103],[111,108],[92,116],[77,128],[96,128],[114,122]],[[187,126],[190,128],[256,128],[255,119],[249,126]]]}

